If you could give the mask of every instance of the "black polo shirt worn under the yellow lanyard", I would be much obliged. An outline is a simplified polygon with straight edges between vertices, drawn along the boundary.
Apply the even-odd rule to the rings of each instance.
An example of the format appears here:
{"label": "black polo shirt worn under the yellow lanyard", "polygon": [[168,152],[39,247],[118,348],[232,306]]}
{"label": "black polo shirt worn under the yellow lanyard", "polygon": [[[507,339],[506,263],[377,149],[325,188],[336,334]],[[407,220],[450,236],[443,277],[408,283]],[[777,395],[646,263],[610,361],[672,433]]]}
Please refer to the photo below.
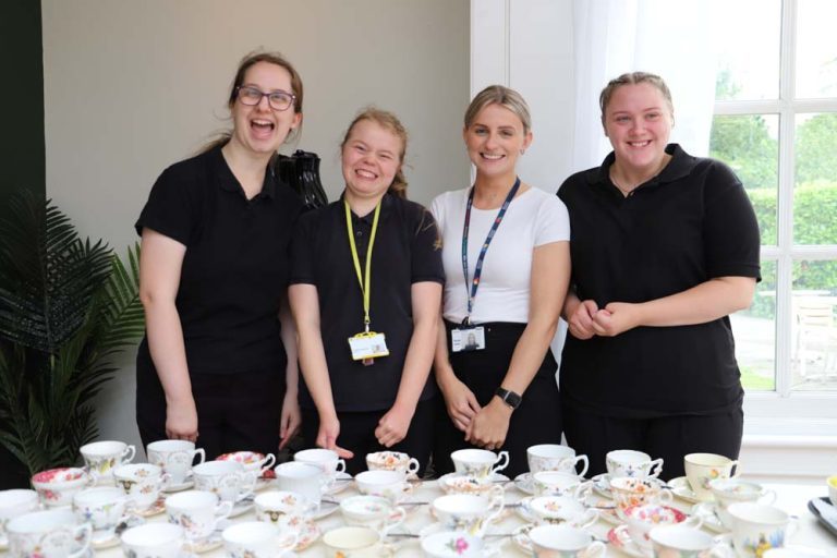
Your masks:
{"label": "black polo shirt worn under the yellow lanyard", "polygon": [[[359,218],[352,230],[365,270],[374,211]],[[300,218],[291,246],[293,283],[317,288],[319,320],[328,374],[337,411],[378,411],[396,400],[407,349],[413,335],[411,289],[422,281],[445,282],[436,221],[421,205],[385,195],[372,254],[371,329],[386,335],[389,356],[364,366],[352,360],[348,338],[363,331],[363,295],[352,263],[342,198]],[[300,404],[314,409],[301,383]],[[432,397],[428,378],[422,400]]]}

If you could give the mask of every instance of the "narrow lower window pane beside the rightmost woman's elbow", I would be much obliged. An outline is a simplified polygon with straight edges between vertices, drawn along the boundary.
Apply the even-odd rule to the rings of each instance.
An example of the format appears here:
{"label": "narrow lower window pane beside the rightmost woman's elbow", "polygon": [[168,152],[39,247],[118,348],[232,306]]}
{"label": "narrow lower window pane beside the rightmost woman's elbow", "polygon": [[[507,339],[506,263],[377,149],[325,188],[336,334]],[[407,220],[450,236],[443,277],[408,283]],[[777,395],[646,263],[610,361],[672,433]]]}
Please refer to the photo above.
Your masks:
{"label": "narrow lower window pane beside the rightmost woman's elbow", "polygon": [[730,320],[744,389],[776,389],[776,262],[762,262],[753,305],[732,314]]}

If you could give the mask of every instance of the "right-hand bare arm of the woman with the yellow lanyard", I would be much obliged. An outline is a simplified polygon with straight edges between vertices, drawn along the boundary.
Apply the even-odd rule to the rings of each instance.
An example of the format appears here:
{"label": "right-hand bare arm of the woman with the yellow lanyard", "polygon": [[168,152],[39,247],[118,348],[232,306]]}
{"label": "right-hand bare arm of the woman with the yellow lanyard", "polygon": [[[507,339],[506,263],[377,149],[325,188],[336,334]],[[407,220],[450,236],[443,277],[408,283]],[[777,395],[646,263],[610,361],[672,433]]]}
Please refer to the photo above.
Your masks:
{"label": "right-hand bare arm of the woman with the yellow lanyard", "polygon": [[375,437],[387,448],[398,444],[410,428],[415,405],[422,395],[433,365],[433,353],[438,338],[441,284],[433,281],[413,283],[413,335],[407,349],[404,369],[398,386],[396,402],[378,422]]}

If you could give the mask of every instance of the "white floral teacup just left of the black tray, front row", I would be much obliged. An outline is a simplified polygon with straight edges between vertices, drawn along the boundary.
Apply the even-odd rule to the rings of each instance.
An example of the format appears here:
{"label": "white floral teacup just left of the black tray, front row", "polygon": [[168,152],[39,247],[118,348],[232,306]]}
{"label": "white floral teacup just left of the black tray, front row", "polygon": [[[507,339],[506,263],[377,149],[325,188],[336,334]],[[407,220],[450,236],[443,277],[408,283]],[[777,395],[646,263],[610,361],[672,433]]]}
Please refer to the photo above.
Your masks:
{"label": "white floral teacup just left of the black tray, front row", "polygon": [[785,546],[797,526],[787,512],[773,506],[737,502],[727,512],[732,522],[732,548],[741,558],[761,558],[768,548]]}

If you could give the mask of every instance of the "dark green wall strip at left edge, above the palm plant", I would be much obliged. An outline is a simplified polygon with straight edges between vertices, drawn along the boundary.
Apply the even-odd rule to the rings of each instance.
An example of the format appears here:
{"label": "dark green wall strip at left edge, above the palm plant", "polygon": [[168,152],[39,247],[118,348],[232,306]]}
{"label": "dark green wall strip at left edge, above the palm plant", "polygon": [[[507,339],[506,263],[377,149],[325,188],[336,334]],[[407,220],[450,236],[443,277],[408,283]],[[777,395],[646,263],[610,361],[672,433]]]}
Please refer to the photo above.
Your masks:
{"label": "dark green wall strip at left edge, above the palm plant", "polygon": [[40,0],[0,1],[0,209],[22,187],[46,195]]}

